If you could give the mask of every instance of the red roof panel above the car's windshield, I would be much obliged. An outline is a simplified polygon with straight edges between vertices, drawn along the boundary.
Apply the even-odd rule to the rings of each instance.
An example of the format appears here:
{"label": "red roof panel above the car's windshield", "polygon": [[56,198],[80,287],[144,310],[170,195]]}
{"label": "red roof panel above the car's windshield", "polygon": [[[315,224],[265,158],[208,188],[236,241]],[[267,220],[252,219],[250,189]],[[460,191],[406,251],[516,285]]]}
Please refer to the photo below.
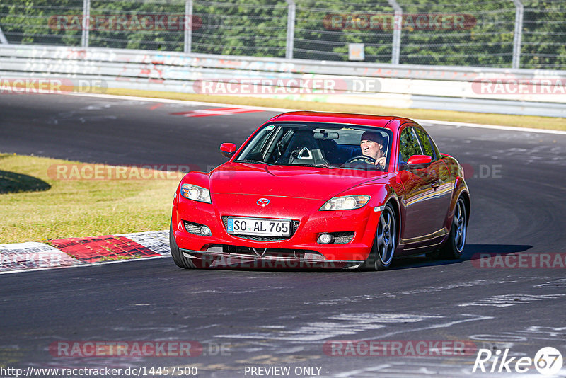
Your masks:
{"label": "red roof panel above the car's windshield", "polygon": [[328,122],[345,123],[350,125],[363,125],[373,127],[385,127],[396,131],[400,125],[407,122],[414,122],[408,118],[395,117],[393,115],[369,115],[354,113],[325,113],[313,111],[298,111],[276,115],[268,122]]}

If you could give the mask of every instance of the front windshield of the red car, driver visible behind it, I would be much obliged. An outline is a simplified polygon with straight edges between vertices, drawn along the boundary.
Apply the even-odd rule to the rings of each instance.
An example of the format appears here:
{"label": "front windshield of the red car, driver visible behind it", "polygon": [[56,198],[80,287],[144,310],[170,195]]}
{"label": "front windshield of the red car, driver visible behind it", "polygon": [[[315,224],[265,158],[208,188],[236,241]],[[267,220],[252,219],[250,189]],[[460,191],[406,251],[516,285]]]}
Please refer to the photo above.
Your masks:
{"label": "front windshield of the red car, driver visible behind it", "polygon": [[[369,139],[363,151],[362,135]],[[381,127],[272,122],[255,133],[235,161],[384,171],[390,150],[391,131]]]}

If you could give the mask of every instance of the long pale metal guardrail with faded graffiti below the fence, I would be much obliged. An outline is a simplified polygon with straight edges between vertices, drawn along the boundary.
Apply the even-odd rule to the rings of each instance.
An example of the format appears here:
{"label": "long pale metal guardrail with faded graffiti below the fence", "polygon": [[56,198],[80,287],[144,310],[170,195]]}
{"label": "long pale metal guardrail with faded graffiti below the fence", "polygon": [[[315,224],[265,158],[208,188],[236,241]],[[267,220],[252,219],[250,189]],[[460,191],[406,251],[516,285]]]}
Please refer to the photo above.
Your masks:
{"label": "long pale metal guardrail with faded graffiti below the fence", "polygon": [[[203,83],[220,81],[230,82],[233,89],[215,92],[221,95],[566,117],[566,71],[399,66],[104,48],[0,47],[0,78],[37,76],[96,78],[110,88],[203,93],[203,99]],[[291,83],[291,79],[295,81]],[[313,79],[333,81],[340,88],[289,90]],[[259,83],[254,91],[250,91],[250,81]],[[264,88],[277,88],[282,82],[289,88]]]}

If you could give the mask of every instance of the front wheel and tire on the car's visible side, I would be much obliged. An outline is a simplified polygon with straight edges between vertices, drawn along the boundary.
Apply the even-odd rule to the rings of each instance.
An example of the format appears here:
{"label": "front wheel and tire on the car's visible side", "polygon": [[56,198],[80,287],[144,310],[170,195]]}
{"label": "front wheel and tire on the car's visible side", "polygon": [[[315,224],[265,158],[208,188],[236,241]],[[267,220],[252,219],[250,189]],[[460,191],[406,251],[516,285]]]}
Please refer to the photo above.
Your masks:
{"label": "front wheel and tire on the car's visible side", "polygon": [[397,247],[397,230],[395,211],[391,205],[387,204],[379,217],[374,246],[360,268],[363,270],[387,270],[389,268]]}

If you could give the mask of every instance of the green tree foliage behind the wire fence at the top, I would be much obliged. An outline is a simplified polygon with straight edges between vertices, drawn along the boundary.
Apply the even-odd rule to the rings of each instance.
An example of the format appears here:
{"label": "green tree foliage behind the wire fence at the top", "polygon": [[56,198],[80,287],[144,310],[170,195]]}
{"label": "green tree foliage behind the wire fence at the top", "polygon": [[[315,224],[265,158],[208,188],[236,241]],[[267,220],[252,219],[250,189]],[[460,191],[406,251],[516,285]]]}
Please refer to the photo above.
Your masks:
{"label": "green tree foliage behind the wire fence at the top", "polygon": [[[356,3],[296,0],[294,58],[347,60],[348,44],[364,43],[366,62],[391,62],[392,6],[386,0],[352,1]],[[287,1],[192,2],[192,52],[285,57]],[[566,69],[566,2],[522,2],[521,68]],[[404,15],[401,64],[511,67],[516,11],[511,0],[398,0],[398,4]],[[82,11],[83,0],[3,0],[0,28],[14,44],[80,46],[83,31],[57,27],[54,17],[80,16]],[[91,0],[91,16],[173,20],[184,13],[185,0]],[[456,17],[465,20],[463,28],[434,23]],[[183,51],[185,45],[185,30],[175,28],[91,27],[88,34],[93,47]]]}

